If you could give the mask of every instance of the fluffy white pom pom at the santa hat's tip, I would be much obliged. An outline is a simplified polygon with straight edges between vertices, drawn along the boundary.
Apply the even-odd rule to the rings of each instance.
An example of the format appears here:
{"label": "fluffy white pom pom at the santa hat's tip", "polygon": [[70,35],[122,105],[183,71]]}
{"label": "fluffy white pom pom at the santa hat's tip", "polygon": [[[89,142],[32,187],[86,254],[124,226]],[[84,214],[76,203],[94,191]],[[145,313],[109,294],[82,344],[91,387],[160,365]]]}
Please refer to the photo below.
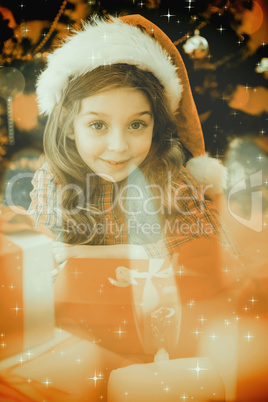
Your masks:
{"label": "fluffy white pom pom at the santa hat's tip", "polygon": [[186,169],[209,197],[222,194],[226,188],[227,168],[218,159],[201,155],[190,159]]}

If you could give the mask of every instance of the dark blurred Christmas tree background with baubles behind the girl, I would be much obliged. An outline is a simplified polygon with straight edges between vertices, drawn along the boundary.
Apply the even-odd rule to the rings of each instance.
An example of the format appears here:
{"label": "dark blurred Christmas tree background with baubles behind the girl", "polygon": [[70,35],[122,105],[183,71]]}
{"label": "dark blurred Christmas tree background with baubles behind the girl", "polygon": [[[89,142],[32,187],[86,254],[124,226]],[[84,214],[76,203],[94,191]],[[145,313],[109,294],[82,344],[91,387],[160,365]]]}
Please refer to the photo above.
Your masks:
{"label": "dark blurred Christmas tree background with baubles behind the girl", "polygon": [[[173,3],[166,0],[0,1],[2,203],[7,202],[7,183],[13,180],[12,203],[28,207],[31,172],[43,160],[46,118],[38,114],[35,83],[47,54],[72,28],[79,29],[83,21],[96,13],[138,13],[157,24],[177,46],[185,62],[207,151],[226,163],[231,148],[235,166],[238,161],[242,167],[251,165],[250,171],[259,168],[259,163],[265,163],[267,168],[268,2],[179,0],[176,5]],[[243,141],[242,147],[237,139]],[[251,147],[254,157],[244,160],[245,152],[251,155]],[[29,175],[20,177],[21,172]]]}

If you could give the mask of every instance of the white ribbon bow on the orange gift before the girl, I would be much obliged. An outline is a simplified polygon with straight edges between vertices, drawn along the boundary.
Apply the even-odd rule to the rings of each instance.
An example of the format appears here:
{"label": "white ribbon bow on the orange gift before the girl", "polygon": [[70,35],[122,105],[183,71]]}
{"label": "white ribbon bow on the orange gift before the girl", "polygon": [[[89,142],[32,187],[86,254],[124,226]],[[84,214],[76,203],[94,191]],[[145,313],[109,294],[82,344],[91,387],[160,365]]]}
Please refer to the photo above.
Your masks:
{"label": "white ribbon bow on the orange gift before the girl", "polygon": [[[164,260],[154,259],[149,262],[149,270],[146,272],[138,272],[134,269],[129,269],[119,266],[115,270],[116,280],[108,278],[110,283],[118,287],[127,287],[137,285],[136,278],[144,278],[145,285],[142,295],[142,310],[144,314],[150,314],[159,305],[160,298],[156,288],[153,285],[152,278],[169,278],[173,276],[172,267],[168,267],[160,271]],[[160,272],[159,272],[160,271]]]}

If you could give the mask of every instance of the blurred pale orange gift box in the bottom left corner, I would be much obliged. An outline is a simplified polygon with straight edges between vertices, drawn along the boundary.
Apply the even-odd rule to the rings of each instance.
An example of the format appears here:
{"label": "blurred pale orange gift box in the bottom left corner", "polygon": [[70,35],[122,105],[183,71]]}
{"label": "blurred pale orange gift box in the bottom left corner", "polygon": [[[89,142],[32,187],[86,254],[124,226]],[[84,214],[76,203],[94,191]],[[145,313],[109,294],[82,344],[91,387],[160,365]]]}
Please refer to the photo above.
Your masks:
{"label": "blurred pale orange gift box in the bottom left corner", "polygon": [[53,335],[0,362],[1,401],[106,400],[109,374],[123,358],[60,329]]}

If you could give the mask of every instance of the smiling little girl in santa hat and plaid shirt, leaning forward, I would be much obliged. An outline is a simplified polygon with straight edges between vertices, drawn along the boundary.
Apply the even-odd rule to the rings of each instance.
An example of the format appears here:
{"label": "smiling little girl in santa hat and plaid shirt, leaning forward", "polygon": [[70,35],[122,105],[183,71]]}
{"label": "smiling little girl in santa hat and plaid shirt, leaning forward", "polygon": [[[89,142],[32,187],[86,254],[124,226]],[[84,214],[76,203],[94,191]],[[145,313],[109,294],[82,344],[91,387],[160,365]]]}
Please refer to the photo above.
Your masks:
{"label": "smiling little girl in santa hat and plaid shirt, leaning forward", "polygon": [[158,27],[93,18],[48,56],[37,94],[47,162],[29,214],[63,233],[59,262],[163,258],[199,238],[232,247],[205,199],[222,167],[205,155],[184,64]]}

